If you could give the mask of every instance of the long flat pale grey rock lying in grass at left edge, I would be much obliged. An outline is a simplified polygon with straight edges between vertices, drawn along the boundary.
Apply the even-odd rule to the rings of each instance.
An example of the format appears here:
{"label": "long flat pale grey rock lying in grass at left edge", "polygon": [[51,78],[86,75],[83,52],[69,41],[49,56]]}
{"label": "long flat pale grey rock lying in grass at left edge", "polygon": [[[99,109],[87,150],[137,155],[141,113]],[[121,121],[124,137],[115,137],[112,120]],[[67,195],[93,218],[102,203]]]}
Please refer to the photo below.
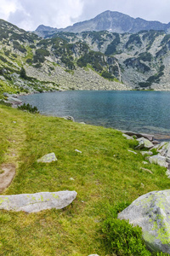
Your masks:
{"label": "long flat pale grey rock lying in grass at left edge", "polygon": [[0,195],[0,209],[14,212],[40,212],[62,209],[77,197],[76,191],[40,192],[36,194]]}

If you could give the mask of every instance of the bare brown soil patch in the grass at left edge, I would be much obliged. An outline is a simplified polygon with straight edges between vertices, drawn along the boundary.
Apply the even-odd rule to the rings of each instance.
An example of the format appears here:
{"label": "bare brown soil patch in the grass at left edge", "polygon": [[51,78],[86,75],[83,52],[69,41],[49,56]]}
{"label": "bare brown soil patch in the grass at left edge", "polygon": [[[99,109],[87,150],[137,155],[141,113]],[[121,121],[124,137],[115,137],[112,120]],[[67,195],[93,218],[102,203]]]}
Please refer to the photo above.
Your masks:
{"label": "bare brown soil patch in the grass at left edge", "polygon": [[0,193],[8,188],[15,175],[14,164],[3,164],[0,166]]}

